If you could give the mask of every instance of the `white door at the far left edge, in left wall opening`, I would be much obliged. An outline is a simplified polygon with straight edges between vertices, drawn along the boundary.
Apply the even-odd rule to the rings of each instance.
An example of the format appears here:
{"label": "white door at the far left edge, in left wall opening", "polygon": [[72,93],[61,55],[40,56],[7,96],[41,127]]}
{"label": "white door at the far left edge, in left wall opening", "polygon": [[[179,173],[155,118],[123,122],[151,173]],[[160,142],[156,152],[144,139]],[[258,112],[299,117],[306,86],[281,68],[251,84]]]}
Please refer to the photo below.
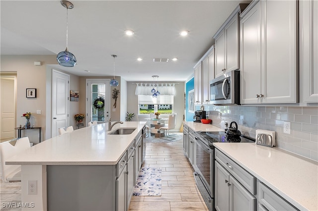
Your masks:
{"label": "white door at the far left edge, in left wall opening", "polygon": [[15,76],[0,77],[0,137],[1,142],[14,138]]}

